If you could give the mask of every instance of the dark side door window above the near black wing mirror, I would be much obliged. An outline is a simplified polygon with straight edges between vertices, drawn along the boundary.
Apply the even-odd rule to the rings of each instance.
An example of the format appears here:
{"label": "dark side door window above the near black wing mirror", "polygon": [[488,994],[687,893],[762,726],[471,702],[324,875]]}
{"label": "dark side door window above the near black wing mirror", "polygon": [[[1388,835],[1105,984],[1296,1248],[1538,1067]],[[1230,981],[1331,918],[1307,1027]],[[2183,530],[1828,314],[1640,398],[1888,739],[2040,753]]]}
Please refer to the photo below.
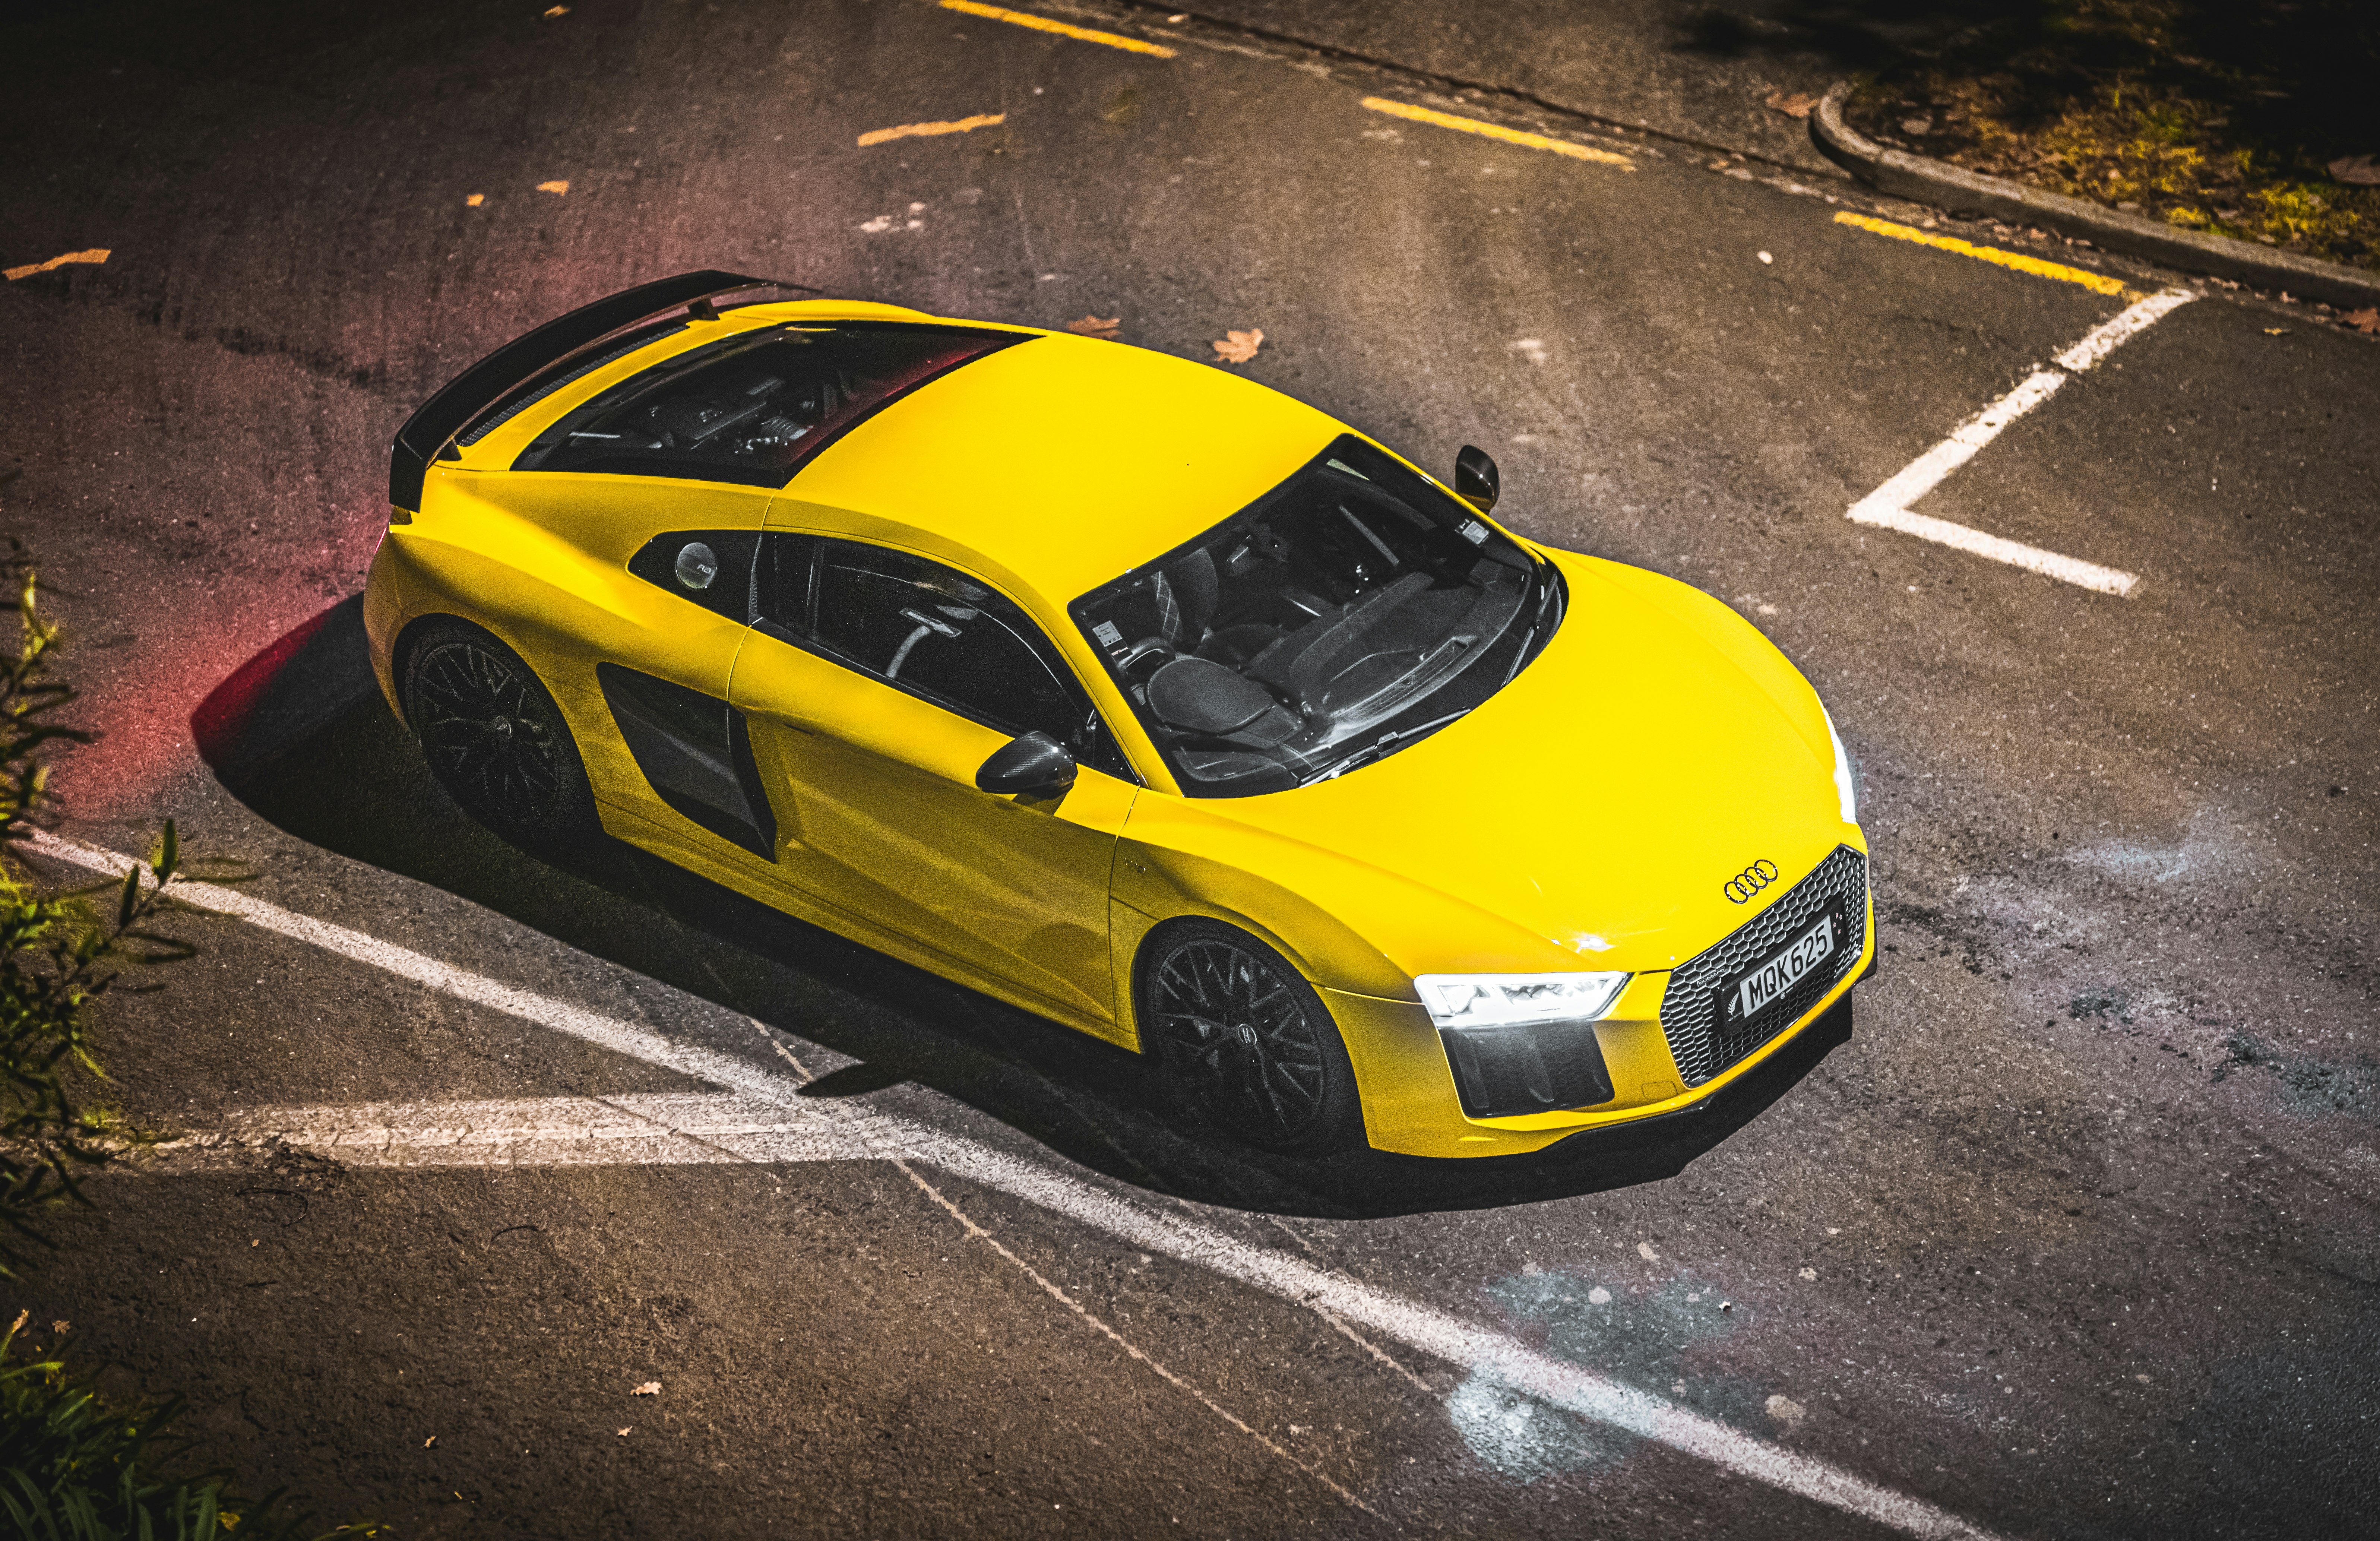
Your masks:
{"label": "dark side door window above the near black wing mirror", "polygon": [[769,536],[759,622],[1007,734],[1042,731],[1133,779],[1040,626],[962,572],[881,545]]}

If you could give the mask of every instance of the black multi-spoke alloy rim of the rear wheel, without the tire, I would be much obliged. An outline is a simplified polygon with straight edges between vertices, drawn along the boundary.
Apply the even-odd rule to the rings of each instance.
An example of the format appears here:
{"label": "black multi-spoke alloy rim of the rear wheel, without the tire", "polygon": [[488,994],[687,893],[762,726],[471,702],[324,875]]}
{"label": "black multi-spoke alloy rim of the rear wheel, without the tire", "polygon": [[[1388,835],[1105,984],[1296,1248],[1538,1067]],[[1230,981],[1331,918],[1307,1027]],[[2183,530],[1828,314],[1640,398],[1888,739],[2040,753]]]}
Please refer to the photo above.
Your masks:
{"label": "black multi-spoke alloy rim of the rear wheel, without the tire", "polygon": [[536,824],[562,791],[557,726],[512,662],[445,643],[414,672],[414,731],[457,800],[495,824]]}

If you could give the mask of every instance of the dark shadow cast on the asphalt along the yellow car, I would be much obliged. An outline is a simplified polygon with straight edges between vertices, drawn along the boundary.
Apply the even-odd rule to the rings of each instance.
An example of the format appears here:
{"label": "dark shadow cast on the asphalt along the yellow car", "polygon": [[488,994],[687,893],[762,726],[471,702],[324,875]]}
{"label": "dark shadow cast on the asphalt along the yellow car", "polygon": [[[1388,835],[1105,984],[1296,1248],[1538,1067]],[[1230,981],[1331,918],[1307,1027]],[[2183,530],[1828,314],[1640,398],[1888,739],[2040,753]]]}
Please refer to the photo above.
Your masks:
{"label": "dark shadow cast on the asphalt along the yellow car", "polygon": [[[1183,1117],[1152,1060],[793,919],[624,841],[555,865],[474,824],[388,712],[350,598],[240,665],[190,717],[224,788],[290,836],[495,910],[852,1065],[804,1096],[933,1117],[966,1103],[1066,1160],[1150,1191],[1271,1215],[1385,1217],[1599,1193],[1683,1172],[1852,1034],[1849,1003],[1706,1110],[1530,1158],[1423,1162],[1376,1150],[1290,1160]],[[666,924],[654,924],[654,917]],[[524,981],[526,984],[526,981]],[[402,1096],[388,1088],[386,1096]]]}

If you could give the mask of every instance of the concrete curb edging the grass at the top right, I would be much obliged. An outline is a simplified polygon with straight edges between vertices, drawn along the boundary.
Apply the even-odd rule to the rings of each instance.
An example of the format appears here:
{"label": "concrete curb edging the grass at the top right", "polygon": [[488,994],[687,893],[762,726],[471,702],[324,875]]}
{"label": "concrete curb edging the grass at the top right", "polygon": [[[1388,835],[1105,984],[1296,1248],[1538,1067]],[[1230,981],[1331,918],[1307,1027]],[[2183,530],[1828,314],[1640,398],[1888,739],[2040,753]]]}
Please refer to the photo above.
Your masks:
{"label": "concrete curb edging the grass at the top right", "polygon": [[2061,236],[2082,236],[2102,250],[2144,257],[2185,274],[2278,288],[2294,298],[2328,300],[2349,310],[2380,305],[2380,274],[2275,252],[2228,236],[2175,229],[2080,198],[2040,193],[1949,162],[1887,150],[1842,121],[1842,98],[1849,93],[1852,83],[1837,81],[1818,100],[1809,114],[1809,138],[1821,155],[1880,193],[1944,210],[1975,210]]}

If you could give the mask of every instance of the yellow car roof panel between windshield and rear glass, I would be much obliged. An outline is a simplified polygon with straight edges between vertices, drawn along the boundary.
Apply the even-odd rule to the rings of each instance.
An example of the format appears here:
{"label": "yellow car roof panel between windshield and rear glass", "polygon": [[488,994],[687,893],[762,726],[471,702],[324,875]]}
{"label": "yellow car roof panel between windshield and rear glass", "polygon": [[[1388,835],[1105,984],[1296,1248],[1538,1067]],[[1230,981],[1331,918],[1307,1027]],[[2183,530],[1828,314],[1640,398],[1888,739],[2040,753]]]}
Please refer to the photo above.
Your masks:
{"label": "yellow car roof panel between windshield and rear glass", "polygon": [[783,500],[976,553],[1064,605],[1247,507],[1347,431],[1214,364],[1028,338],[866,419]]}

